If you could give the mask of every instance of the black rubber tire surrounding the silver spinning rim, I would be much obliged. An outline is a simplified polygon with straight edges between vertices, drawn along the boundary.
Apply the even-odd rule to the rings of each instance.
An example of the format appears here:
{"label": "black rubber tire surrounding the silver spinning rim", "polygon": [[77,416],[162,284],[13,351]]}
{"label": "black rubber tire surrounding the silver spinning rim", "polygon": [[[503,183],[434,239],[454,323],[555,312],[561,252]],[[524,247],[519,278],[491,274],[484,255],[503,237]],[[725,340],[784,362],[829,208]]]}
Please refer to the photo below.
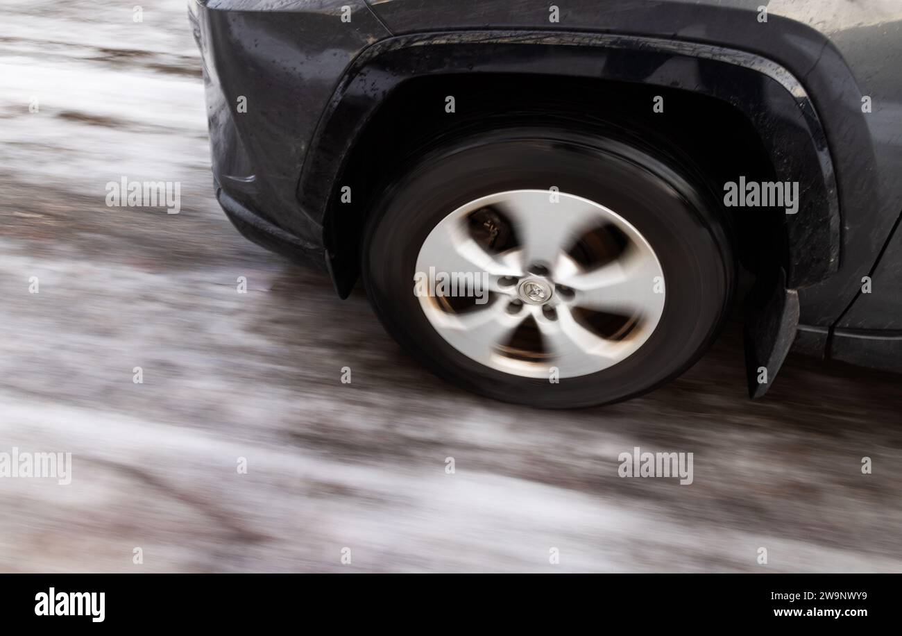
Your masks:
{"label": "black rubber tire surrounding the silver spinning rim", "polygon": [[[736,265],[726,229],[714,214],[717,204],[710,190],[696,185],[701,181],[690,181],[681,174],[694,175],[695,169],[672,159],[678,156],[674,152],[667,158],[661,152],[654,153],[662,158],[638,143],[621,143],[611,134],[576,134],[565,128],[534,126],[471,134],[422,153],[385,189],[364,228],[364,285],[383,326],[400,346],[438,376],[471,392],[538,408],[580,408],[622,401],[683,373],[704,353],[723,323],[732,301]],[[674,167],[677,164],[679,171]],[[615,212],[615,217],[625,221],[623,227],[634,228],[644,239],[666,280],[666,294],[656,309],[657,323],[643,332],[638,348],[594,373],[563,373],[557,382],[552,381],[550,372],[528,377],[466,355],[433,326],[424,309],[427,306],[413,293],[421,248],[425,249],[427,238],[444,219],[451,218],[452,212],[495,193],[547,193],[552,186],[566,196],[568,205],[583,198]],[[492,241],[497,241],[498,227],[515,226],[502,216],[492,216],[494,220],[486,225],[492,228]],[[507,234],[516,234],[516,229]],[[517,284],[521,286],[523,280],[518,279]],[[500,284],[502,279],[498,281]],[[550,279],[548,284],[556,302],[563,302],[566,288],[558,290]],[[531,303],[546,292],[536,285],[530,291],[536,293],[522,296],[520,287],[513,293],[520,293],[520,298]],[[502,298],[510,303],[509,311],[516,310],[519,300],[511,298]],[[500,300],[495,298],[492,307],[495,301]],[[559,315],[563,328],[569,309],[558,307],[563,311]],[[538,311],[531,306],[527,309]],[[573,315],[580,311],[573,309]],[[553,361],[554,356],[545,353],[544,332],[538,340],[539,362]],[[628,340],[630,337],[610,342],[621,346],[620,342]],[[621,350],[628,349],[617,349]],[[491,359],[523,368],[538,364],[533,358],[524,363],[514,357],[509,362],[492,354]],[[593,357],[590,362],[597,360]],[[532,368],[544,367],[529,366]],[[593,367],[589,364],[585,368]]]}

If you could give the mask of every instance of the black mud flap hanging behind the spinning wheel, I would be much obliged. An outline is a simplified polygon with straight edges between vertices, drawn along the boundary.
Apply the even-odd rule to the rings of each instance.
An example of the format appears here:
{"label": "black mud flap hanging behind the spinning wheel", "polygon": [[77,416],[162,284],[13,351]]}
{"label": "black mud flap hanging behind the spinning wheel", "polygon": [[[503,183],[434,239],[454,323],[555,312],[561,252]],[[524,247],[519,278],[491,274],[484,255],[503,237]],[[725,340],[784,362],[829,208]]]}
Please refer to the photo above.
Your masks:
{"label": "black mud flap hanging behind the spinning wheel", "polygon": [[798,293],[786,289],[782,269],[774,280],[757,281],[745,306],[745,371],[749,397],[759,398],[770,385],[796,339]]}

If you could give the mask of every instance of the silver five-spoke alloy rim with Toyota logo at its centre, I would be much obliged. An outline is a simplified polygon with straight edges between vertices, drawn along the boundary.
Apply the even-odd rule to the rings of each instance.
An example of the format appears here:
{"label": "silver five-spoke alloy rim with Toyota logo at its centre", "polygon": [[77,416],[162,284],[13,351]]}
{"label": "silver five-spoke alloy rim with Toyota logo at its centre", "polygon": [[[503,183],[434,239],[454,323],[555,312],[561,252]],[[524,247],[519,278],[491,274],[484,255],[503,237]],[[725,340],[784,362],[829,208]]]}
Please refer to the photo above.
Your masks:
{"label": "silver five-spoke alloy rim with Toyota logo at its centre", "polygon": [[[443,288],[443,278],[459,284]],[[529,378],[622,362],[648,342],[666,298],[658,256],[636,227],[553,190],[496,192],[452,211],[420,247],[415,280],[424,279],[419,306],[450,346]]]}

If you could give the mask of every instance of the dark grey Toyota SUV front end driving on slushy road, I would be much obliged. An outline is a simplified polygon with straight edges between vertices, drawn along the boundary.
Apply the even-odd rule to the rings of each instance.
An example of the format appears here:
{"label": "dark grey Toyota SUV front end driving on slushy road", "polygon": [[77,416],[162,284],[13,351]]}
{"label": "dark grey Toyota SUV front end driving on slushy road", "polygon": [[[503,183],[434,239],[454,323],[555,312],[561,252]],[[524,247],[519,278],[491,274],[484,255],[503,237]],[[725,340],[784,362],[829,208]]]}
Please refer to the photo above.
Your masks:
{"label": "dark grey Toyota SUV front end driving on slushy road", "polygon": [[897,0],[189,13],[228,217],[342,297],[362,276],[448,380],[626,399],[704,353],[738,286],[753,396],[791,346],[900,368]]}

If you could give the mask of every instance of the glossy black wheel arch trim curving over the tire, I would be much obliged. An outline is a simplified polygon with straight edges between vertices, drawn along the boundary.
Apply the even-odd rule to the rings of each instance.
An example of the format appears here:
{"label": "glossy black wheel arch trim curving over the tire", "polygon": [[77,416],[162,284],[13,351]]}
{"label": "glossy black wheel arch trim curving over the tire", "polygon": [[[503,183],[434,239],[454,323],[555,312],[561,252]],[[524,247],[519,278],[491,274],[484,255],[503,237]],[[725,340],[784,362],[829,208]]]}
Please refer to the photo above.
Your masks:
{"label": "glossy black wheel arch trim curving over the tire", "polygon": [[[680,91],[728,106],[758,136],[774,177],[799,183],[798,212],[787,215],[780,231],[787,286],[804,287],[836,272],[840,209],[824,127],[805,88],[777,63],[744,51],[659,38],[432,32],[389,38],[364,50],[336,88],[308,149],[298,196],[322,220],[327,264],[342,296],[357,277],[355,232],[366,213],[366,197],[355,192],[355,184],[374,168],[361,159],[362,140],[379,125],[382,107],[411,81],[497,76],[619,83]],[[454,82],[448,86],[458,86]],[[397,133],[410,131],[399,126]],[[345,187],[351,188],[350,206],[342,202]]]}

